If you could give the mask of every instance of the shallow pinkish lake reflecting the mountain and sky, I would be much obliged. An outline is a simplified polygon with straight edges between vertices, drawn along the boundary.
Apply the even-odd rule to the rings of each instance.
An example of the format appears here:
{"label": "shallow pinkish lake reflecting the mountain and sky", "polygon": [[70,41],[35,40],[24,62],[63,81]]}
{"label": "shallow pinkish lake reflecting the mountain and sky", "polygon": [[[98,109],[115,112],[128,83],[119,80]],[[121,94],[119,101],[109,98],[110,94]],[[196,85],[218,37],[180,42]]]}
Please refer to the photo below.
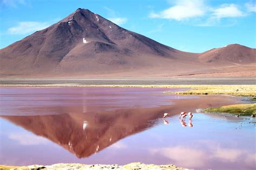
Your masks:
{"label": "shallow pinkish lake reflecting the mountain and sky", "polygon": [[[242,97],[180,96],[170,88],[0,87],[0,164],[174,164],[254,169],[255,125],[196,109]],[[179,121],[181,111],[192,121]],[[170,114],[163,119],[165,112]]]}

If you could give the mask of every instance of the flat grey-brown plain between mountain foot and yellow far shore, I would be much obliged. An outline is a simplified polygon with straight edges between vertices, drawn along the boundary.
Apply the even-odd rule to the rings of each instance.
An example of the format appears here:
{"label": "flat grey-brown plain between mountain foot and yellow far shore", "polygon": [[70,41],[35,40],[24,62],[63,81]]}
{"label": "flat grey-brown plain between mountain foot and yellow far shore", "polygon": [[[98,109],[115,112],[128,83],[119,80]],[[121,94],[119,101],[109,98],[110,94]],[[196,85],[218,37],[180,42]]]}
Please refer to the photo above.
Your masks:
{"label": "flat grey-brown plain between mountain foot and yellow far shore", "polygon": [[0,84],[79,84],[79,85],[240,85],[255,84],[255,78],[248,79],[0,79]]}

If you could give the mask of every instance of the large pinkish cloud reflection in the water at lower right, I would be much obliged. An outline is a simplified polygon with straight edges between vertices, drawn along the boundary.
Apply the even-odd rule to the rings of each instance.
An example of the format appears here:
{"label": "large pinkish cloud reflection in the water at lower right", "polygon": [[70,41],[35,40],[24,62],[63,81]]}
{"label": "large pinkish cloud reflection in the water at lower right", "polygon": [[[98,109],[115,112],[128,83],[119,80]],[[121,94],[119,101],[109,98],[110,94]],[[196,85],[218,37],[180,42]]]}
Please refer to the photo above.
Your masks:
{"label": "large pinkish cloud reflection in the water at lower right", "polygon": [[[254,169],[256,157],[253,151],[248,153],[241,148],[223,147],[212,140],[199,140],[187,146],[181,144],[153,148],[151,154],[167,158],[172,162],[183,162],[184,167],[196,169],[211,168],[213,162],[218,162],[214,169]],[[243,168],[239,168],[241,165]]]}

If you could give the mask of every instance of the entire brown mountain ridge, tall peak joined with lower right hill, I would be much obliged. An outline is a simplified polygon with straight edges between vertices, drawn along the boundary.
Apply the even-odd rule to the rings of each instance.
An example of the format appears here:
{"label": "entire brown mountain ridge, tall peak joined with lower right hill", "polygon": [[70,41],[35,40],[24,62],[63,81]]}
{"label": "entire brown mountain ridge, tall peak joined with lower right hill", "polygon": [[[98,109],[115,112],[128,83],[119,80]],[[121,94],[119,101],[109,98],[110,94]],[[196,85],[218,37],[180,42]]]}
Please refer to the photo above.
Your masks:
{"label": "entire brown mountain ridge, tall peak joined with lower right hill", "polygon": [[[188,75],[255,64],[256,49],[228,45],[182,52],[123,29],[87,9],[0,49],[1,77]],[[221,63],[221,65],[219,65]],[[239,69],[242,70],[242,69]]]}

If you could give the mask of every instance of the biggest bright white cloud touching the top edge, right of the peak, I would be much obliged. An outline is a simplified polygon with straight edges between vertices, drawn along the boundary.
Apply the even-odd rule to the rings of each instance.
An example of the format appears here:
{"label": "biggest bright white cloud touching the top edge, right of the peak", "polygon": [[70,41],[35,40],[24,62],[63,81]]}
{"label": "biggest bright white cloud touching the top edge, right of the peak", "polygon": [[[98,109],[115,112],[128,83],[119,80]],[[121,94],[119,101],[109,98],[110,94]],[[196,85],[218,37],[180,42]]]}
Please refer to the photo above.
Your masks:
{"label": "biggest bright white cloud touching the top edge, right of the peak", "polygon": [[174,6],[161,11],[159,13],[150,13],[151,18],[164,18],[174,20],[184,20],[187,18],[194,18],[204,16],[207,6],[203,0],[181,0],[176,1]]}

